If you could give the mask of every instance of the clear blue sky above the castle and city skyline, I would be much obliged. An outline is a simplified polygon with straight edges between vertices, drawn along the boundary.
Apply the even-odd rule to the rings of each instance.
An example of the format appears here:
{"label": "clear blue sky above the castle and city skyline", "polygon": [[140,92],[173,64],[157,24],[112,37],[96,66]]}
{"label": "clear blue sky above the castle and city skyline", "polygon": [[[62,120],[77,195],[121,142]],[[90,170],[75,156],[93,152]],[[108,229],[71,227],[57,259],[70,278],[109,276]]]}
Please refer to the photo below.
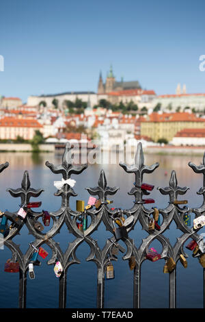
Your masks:
{"label": "clear blue sky above the castle and city skyline", "polygon": [[204,0],[3,0],[0,95],[97,90],[110,64],[117,79],[157,95],[205,92]]}

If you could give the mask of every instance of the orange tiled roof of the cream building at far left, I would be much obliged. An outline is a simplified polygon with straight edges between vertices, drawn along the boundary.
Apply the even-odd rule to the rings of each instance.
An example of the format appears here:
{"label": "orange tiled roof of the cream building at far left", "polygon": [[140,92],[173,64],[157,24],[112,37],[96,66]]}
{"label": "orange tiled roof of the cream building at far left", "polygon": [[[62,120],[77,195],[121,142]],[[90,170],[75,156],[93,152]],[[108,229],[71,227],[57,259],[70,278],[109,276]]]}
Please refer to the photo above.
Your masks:
{"label": "orange tiled roof of the cream building at far left", "polygon": [[0,119],[0,127],[42,127],[42,125],[35,119],[16,119],[6,116]]}

